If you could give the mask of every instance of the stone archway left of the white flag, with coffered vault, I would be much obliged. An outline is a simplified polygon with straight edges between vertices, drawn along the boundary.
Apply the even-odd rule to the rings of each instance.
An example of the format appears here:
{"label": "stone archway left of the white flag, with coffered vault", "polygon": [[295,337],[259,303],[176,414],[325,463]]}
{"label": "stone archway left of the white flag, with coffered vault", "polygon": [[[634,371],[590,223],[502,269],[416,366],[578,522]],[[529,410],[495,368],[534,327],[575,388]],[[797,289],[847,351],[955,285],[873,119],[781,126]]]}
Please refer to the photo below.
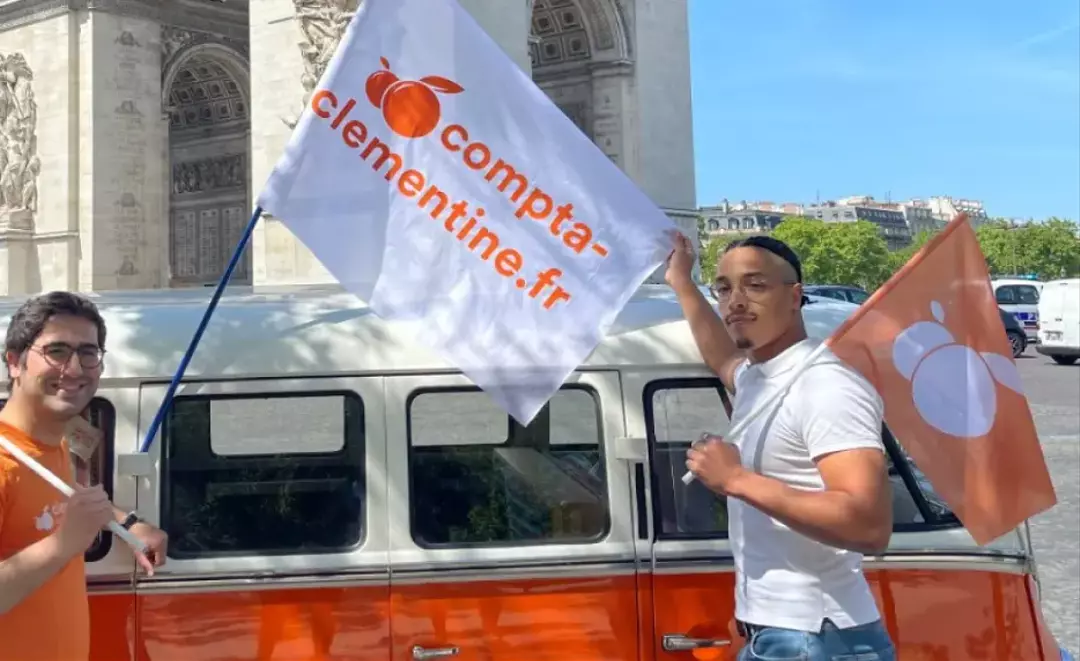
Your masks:
{"label": "stone archway left of the white flag, with coffered vault", "polygon": [[[247,63],[203,43],[172,58],[163,77],[168,117],[168,283],[217,283],[252,212]],[[251,249],[230,282],[252,281]]]}

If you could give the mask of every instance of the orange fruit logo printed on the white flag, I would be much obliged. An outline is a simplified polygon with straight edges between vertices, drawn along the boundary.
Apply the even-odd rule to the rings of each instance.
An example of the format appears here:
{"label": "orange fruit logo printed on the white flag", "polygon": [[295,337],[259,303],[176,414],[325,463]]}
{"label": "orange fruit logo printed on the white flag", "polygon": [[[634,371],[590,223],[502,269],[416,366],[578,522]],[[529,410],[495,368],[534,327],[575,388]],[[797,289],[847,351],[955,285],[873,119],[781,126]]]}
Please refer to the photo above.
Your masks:
{"label": "orange fruit logo printed on the white flag", "polygon": [[382,110],[387,126],[402,137],[423,137],[434,131],[442,117],[435,92],[459,94],[463,87],[442,76],[420,80],[402,80],[390,70],[390,63],[380,57],[382,69],[367,77],[367,100]]}

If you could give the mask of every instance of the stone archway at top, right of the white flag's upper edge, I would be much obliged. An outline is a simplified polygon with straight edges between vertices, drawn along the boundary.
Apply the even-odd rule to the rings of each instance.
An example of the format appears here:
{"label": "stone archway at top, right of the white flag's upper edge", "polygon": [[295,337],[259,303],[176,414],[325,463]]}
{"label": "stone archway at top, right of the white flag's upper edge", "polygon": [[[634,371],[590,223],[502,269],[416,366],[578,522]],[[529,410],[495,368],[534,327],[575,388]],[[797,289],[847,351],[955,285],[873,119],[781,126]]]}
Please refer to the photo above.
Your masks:
{"label": "stone archway at top, right of the white flag's upper edge", "polygon": [[532,80],[625,167],[632,41],[617,0],[532,0]]}

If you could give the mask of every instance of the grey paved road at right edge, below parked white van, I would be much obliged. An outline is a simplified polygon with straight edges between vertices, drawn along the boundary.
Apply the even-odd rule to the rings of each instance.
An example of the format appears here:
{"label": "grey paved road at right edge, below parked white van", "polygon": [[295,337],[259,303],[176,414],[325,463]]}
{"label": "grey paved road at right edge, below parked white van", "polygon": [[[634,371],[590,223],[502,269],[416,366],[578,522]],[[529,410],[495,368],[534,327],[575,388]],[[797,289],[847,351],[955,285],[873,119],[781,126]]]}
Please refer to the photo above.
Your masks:
{"label": "grey paved road at right edge, below parked white van", "polygon": [[1028,348],[1017,360],[1057,491],[1031,521],[1042,610],[1058,643],[1080,653],[1080,365],[1061,366]]}

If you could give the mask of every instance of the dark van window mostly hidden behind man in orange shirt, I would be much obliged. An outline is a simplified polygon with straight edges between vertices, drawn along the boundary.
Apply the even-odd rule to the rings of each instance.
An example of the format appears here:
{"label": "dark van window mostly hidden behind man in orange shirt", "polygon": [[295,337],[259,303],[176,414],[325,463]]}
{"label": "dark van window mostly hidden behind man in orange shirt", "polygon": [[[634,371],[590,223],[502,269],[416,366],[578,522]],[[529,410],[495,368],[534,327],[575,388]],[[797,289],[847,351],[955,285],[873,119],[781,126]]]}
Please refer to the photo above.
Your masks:
{"label": "dark van window mostly hidden behind man in orange shirt", "polygon": [[[0,399],[0,408],[6,403]],[[112,436],[117,412],[108,400],[96,396],[90,401],[82,418],[90,422],[91,429],[70,432],[67,435],[68,447],[71,448],[71,474],[77,483],[83,486],[102,485],[105,493],[112,498]],[[87,433],[89,432],[89,433]],[[79,437],[73,435],[78,433]],[[76,446],[79,447],[76,447]],[[92,449],[91,449],[92,446]],[[85,450],[81,449],[85,448]],[[85,562],[93,563],[109,553],[112,534],[102,530],[84,554]]]}

